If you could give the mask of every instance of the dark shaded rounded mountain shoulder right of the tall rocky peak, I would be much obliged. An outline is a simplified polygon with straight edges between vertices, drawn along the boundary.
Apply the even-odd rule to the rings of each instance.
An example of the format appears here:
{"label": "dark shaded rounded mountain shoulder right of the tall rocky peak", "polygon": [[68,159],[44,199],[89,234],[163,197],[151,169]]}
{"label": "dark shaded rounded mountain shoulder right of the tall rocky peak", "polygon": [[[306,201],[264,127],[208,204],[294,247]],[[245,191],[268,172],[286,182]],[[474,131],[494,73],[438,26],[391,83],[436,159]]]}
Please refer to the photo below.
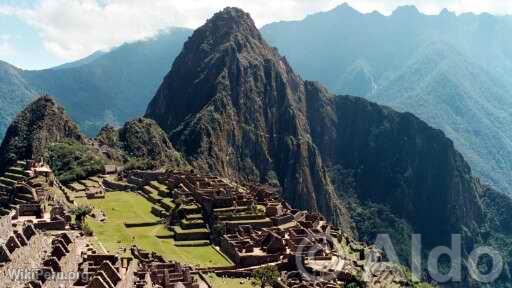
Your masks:
{"label": "dark shaded rounded mountain shoulder right of the tall rocky peak", "polygon": [[350,192],[384,204],[430,245],[448,243],[462,227],[478,231],[482,187],[442,131],[363,98],[329,95],[316,83],[306,82],[306,91],[312,139],[330,176],[354,181],[337,187],[340,197]]}

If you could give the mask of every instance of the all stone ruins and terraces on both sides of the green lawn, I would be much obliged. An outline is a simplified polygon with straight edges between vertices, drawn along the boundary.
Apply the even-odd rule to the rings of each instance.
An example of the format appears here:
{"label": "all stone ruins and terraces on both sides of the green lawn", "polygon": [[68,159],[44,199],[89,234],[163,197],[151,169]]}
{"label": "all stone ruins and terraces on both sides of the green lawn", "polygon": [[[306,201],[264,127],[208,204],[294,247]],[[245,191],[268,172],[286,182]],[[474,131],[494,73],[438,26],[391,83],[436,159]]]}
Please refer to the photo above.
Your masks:
{"label": "all stone ruins and terraces on both sides of the green lawn", "polygon": [[[193,277],[201,275],[197,270],[166,262],[153,252],[132,247],[132,258],[98,254],[95,249],[87,248],[88,245],[82,243],[86,241],[76,236],[78,232],[70,230],[71,217],[51,192],[61,190],[72,203],[68,189],[54,179],[51,170],[27,162],[9,171],[20,175],[7,175],[16,181],[0,179],[0,184],[14,181],[10,187],[0,186],[2,213],[11,209],[7,217],[0,219],[0,277],[3,277],[0,281],[11,283],[8,287],[18,286],[6,279],[6,267],[38,271],[37,278],[19,287],[196,288],[202,285],[201,280]],[[360,274],[362,262],[382,258],[379,251],[369,254],[368,247],[333,229],[320,214],[291,208],[279,197],[279,189],[275,187],[238,184],[220,177],[199,175],[193,170],[123,171],[118,180],[92,178],[93,182],[98,181],[102,191],[85,193],[84,197],[104,197],[103,189],[136,191],[155,204],[153,214],[170,220],[176,241],[204,240],[219,246],[235,265],[233,271],[217,273],[247,275],[261,265],[276,265],[282,272],[282,282],[288,287],[335,287],[335,284],[359,281],[356,275]],[[92,180],[84,180],[82,186],[89,185],[92,191],[96,187],[89,182]],[[331,236],[350,247],[357,257],[343,258],[345,256],[336,251]],[[34,251],[32,255],[31,251]],[[317,269],[318,263],[340,257],[348,263],[342,271]],[[321,275],[336,272],[335,280],[306,279],[297,271],[298,264]],[[368,275],[363,284],[386,287],[387,283],[406,283],[393,269],[385,271]],[[53,275],[60,272],[75,272],[77,277],[53,279]]]}

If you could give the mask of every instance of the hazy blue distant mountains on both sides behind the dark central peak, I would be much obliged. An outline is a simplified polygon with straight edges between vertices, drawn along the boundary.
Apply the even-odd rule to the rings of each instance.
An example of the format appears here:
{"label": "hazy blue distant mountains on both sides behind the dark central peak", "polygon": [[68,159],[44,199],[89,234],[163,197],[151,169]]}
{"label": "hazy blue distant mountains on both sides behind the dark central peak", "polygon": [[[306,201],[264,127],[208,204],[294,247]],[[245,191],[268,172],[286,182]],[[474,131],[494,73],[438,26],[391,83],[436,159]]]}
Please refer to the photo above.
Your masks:
{"label": "hazy blue distant mountains on both sides behind the dark central peak", "polygon": [[[383,16],[344,4],[261,31],[303,77],[413,112],[443,130],[485,183],[512,193],[512,17],[413,6]],[[174,29],[42,71],[0,63],[0,135],[41,93],[89,136],[142,115],[189,35]]]}

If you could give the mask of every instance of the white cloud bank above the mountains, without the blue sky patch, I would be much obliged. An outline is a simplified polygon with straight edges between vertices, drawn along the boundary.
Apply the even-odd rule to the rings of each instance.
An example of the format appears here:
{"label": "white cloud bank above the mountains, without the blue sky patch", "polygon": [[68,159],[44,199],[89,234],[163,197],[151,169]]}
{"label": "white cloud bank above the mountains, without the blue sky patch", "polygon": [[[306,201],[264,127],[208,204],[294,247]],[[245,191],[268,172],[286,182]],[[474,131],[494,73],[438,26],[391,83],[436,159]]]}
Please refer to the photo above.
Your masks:
{"label": "white cloud bank above the mountains, without the blue sky patch", "polygon": [[[512,13],[503,0],[348,0],[362,12],[390,14],[397,6],[415,4],[426,13],[446,7],[456,12]],[[123,42],[144,39],[171,26],[195,28],[226,6],[251,13],[258,26],[301,19],[326,11],[343,0],[40,0],[31,8],[0,6],[0,14],[17,15],[36,29],[44,45],[63,60],[75,60]]]}

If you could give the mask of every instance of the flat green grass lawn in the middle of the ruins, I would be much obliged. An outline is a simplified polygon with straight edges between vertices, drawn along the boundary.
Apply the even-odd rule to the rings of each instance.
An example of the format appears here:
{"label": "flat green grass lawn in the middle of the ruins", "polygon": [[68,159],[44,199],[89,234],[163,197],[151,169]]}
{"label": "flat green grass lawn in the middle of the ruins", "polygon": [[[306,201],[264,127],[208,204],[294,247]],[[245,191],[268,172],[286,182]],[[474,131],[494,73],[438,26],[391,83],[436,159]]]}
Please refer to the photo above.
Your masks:
{"label": "flat green grass lawn in the middle of the ruins", "polygon": [[164,225],[126,228],[125,222],[154,222],[158,217],[151,214],[152,204],[136,193],[108,192],[105,199],[81,199],[80,204],[88,204],[102,210],[107,216],[105,222],[89,218],[87,223],[98,241],[109,252],[119,248],[128,249],[135,244],[139,248],[154,251],[167,260],[178,261],[201,267],[232,265],[212,246],[176,247],[173,239],[159,239],[156,236],[169,235]]}

